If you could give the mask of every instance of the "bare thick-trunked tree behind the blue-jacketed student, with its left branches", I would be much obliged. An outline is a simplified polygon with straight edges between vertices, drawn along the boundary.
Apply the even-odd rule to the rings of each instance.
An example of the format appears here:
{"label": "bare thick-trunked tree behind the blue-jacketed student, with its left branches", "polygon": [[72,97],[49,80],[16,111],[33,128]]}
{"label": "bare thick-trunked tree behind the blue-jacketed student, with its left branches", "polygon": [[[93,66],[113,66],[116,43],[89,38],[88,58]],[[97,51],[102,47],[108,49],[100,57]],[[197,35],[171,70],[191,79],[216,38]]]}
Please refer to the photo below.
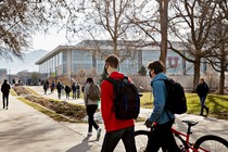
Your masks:
{"label": "bare thick-trunked tree behind the blue-jacketed student, with its left branches", "polygon": [[144,33],[147,40],[152,40],[152,43],[144,45],[155,42],[160,46],[160,61],[164,65],[166,65],[167,56],[168,2],[167,0],[157,0],[157,3],[149,0],[137,1],[135,12],[130,16],[130,23]]}

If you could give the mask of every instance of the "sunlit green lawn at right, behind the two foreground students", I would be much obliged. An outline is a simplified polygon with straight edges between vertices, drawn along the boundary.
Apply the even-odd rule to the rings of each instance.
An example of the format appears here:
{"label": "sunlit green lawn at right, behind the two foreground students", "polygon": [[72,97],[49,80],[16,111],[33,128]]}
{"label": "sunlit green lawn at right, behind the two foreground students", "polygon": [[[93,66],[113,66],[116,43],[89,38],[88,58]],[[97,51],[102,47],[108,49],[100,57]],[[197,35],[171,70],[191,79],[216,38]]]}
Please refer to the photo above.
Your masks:
{"label": "sunlit green lawn at right, behind the two foreground students", "polygon": [[[153,96],[151,92],[143,92],[141,97],[141,107],[153,107]],[[197,93],[186,93],[188,112],[190,114],[200,113],[200,101]],[[205,104],[210,107],[210,116],[217,117],[219,113],[228,114],[228,96],[208,94]],[[225,115],[226,116],[226,115]],[[221,116],[223,117],[223,116]],[[228,116],[227,116],[228,117]],[[223,117],[228,119],[227,117]]]}

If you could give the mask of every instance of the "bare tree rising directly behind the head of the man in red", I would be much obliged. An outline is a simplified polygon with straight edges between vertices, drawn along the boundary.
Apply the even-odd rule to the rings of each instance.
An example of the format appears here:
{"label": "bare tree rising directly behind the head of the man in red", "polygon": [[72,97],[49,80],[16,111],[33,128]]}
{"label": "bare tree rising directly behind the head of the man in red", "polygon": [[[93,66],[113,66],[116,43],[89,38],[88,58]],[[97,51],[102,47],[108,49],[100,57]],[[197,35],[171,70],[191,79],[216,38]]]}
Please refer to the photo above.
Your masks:
{"label": "bare tree rising directly behind the head of the man in red", "polygon": [[[131,33],[132,27],[127,18],[134,10],[131,0],[78,0],[69,8],[71,14],[66,25],[69,41],[92,39],[93,47],[97,45],[96,49],[100,54],[114,53],[122,60],[123,56],[132,55],[129,52],[134,52],[135,49],[129,41],[139,38],[140,34]],[[99,42],[99,39],[107,40],[106,43],[111,41],[112,52],[102,50],[105,43]]]}

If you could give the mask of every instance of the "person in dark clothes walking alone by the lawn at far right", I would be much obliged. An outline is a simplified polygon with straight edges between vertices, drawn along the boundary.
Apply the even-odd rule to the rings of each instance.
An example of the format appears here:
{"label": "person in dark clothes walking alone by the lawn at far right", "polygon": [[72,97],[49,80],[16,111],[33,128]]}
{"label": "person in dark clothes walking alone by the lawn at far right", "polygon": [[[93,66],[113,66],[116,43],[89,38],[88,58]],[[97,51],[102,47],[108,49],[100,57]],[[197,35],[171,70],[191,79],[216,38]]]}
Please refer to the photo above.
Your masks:
{"label": "person in dark clothes walking alone by the lawn at far right", "polygon": [[[200,98],[200,103],[201,103],[201,111],[200,111],[200,115],[202,116],[207,116],[208,115],[208,112],[210,112],[210,109],[205,105],[205,100],[206,100],[206,97],[207,97],[207,93],[208,93],[208,86],[207,84],[204,81],[204,78],[200,78],[200,81],[197,86],[197,93]],[[206,115],[203,114],[203,110],[206,110]]]}

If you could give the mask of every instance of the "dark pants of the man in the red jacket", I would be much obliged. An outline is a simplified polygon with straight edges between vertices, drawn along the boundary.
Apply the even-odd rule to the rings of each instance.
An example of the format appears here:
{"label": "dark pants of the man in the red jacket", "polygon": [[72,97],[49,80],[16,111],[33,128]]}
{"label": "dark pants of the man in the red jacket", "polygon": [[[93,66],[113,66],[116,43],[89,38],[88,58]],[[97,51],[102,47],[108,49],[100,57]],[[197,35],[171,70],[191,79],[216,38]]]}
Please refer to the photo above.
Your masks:
{"label": "dark pants of the man in the red jacket", "polygon": [[121,139],[124,142],[126,152],[136,152],[135,127],[106,132],[101,152],[113,152]]}

